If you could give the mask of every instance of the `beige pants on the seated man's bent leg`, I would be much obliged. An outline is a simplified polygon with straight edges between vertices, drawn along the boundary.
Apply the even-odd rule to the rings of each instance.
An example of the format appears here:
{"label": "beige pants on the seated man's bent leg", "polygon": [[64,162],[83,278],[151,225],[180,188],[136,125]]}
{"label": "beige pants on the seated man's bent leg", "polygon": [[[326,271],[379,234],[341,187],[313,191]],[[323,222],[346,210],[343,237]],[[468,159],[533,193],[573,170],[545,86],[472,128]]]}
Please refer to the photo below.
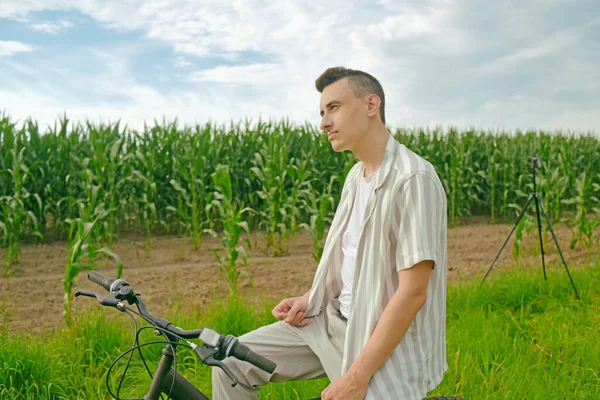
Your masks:
{"label": "beige pants on the seated man's bent leg", "polygon": [[334,381],[341,375],[345,334],[346,321],[339,312],[337,299],[306,326],[295,327],[278,321],[248,332],[240,336],[240,342],[275,362],[277,368],[269,374],[250,363],[227,357],[223,362],[238,378],[238,384],[231,387],[225,372],[213,367],[213,399],[257,399],[259,388],[269,382],[325,376]]}

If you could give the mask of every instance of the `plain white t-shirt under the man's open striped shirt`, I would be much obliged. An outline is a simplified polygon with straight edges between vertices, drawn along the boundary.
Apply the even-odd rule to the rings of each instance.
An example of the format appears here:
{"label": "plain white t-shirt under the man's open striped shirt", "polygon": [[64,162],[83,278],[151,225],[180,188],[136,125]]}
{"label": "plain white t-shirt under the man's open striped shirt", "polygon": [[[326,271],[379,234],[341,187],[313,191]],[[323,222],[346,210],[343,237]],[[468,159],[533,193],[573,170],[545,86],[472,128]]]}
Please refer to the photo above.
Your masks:
{"label": "plain white t-shirt under the man's open striped shirt", "polygon": [[369,196],[373,191],[377,171],[365,177],[363,168],[358,177],[358,186],[356,188],[356,197],[354,206],[350,215],[350,221],[342,237],[342,251],[344,258],[342,261],[342,292],[340,293],[340,313],[348,318],[350,313],[350,301],[352,300],[352,285],[354,284],[354,267],[356,264],[356,246],[358,245],[358,235],[365,214],[365,208]]}

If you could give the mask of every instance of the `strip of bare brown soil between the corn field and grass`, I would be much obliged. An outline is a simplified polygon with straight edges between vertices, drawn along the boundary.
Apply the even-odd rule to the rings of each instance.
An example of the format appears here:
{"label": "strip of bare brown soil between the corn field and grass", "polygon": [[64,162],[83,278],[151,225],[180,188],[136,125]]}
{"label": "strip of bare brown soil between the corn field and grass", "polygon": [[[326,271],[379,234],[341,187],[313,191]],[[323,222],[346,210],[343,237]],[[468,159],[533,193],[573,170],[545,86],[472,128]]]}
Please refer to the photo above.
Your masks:
{"label": "strip of bare brown soil between the corn field and grass", "polygon": [[[448,279],[456,282],[485,273],[512,225],[490,225],[485,218],[471,219],[468,224],[448,230]],[[569,269],[585,267],[586,250],[582,244],[569,249],[571,232],[567,227],[554,226],[558,242]],[[600,232],[599,232],[600,234]],[[524,253],[520,258],[523,268],[539,268],[542,262],[536,243],[537,230],[524,239]],[[199,251],[192,251],[189,238],[154,237],[154,247],[147,255],[143,250],[144,239],[137,236],[124,237],[113,246],[125,264],[123,278],[141,293],[151,312],[160,315],[174,301],[183,300],[187,306],[203,307],[214,300],[214,295],[225,296],[228,292],[219,274],[218,264],[211,248],[220,248],[218,239],[203,238]],[[310,289],[317,263],[312,258],[312,239],[300,231],[289,244],[289,254],[271,257],[264,249],[263,235],[252,235],[253,248],[248,251],[249,279],[242,275],[240,287],[248,301],[279,301],[285,297],[298,296]],[[502,251],[488,279],[494,271],[514,263],[512,248],[514,234]],[[0,280],[0,327],[4,324],[12,332],[41,333],[63,326],[62,278],[67,259],[65,242],[44,245],[24,245],[21,262],[9,278]],[[544,237],[546,265],[562,268],[556,245],[548,232]],[[597,248],[595,248],[597,254]],[[4,259],[0,249],[0,259]],[[592,257],[594,259],[594,256]],[[597,259],[597,256],[596,256]],[[99,269],[111,276],[116,266],[104,261]],[[567,279],[565,275],[565,279]],[[76,279],[75,289],[99,290],[87,280],[82,272]],[[77,298],[76,311],[97,305],[88,298]]]}

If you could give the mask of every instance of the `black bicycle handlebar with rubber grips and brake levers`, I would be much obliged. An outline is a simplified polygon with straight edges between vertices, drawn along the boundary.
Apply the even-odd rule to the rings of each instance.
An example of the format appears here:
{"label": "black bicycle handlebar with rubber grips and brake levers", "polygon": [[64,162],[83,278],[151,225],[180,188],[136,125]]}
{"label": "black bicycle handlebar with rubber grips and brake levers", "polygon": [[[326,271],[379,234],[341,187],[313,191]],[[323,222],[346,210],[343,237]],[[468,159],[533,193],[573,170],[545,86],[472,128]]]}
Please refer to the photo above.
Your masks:
{"label": "black bicycle handlebar with rubber grips and brake levers", "polygon": [[[204,329],[184,330],[179,327],[173,326],[169,321],[152,315],[146,309],[146,305],[142,300],[139,293],[135,293],[129,283],[123,279],[115,279],[108,277],[101,272],[91,270],[88,273],[88,279],[92,282],[102,286],[106,291],[110,292],[108,296],[100,296],[96,293],[91,293],[83,290],[78,290],[75,296],[89,296],[96,297],[98,302],[103,306],[116,307],[120,311],[124,311],[124,305],[122,301],[127,300],[129,304],[136,304],[140,310],[140,315],[151,324],[158,326],[159,328],[165,329],[166,331],[181,337],[183,339],[200,339]],[[211,329],[207,329],[207,333],[213,333],[218,335],[214,343],[205,343],[207,346],[210,345],[215,348],[216,352],[214,356],[217,360],[222,360],[225,357],[232,356],[238,360],[249,362],[250,364],[262,369],[263,371],[273,373],[277,366],[273,361],[261,356],[258,353],[253,352],[248,346],[240,343],[238,338],[232,335],[223,336],[218,332]],[[209,337],[207,335],[207,337]],[[201,339],[202,340],[202,339]],[[205,361],[205,360],[202,360]],[[208,361],[208,360],[206,360]]]}

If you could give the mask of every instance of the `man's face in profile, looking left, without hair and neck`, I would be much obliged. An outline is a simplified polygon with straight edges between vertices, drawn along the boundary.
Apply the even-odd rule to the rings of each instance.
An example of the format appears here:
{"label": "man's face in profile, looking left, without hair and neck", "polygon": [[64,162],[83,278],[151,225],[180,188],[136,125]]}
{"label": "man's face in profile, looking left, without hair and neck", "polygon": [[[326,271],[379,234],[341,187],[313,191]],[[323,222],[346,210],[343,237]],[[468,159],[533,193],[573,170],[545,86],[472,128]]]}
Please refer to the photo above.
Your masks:
{"label": "man's face in profile, looking left, without hair and neck", "polygon": [[327,131],[334,151],[353,151],[368,129],[367,102],[357,99],[348,84],[340,79],[321,93],[321,129]]}

